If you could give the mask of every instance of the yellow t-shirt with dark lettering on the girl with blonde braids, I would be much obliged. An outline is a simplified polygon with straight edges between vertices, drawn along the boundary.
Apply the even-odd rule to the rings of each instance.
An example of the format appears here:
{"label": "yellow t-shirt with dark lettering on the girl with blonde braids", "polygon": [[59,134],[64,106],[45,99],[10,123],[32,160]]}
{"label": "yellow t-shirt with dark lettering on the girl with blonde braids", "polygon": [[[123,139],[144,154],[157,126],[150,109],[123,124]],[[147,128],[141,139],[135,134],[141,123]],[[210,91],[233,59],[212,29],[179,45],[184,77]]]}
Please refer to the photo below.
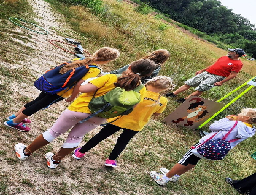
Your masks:
{"label": "yellow t-shirt with dark lettering on the girl with blonde braids", "polygon": [[154,104],[158,100],[159,95],[159,93],[146,91],[143,101],[139,103],[130,114],[122,116],[121,118],[120,116],[110,118],[107,121],[111,122],[119,118],[111,124],[133,131],[141,131],[150,120],[152,114],[162,113],[165,110],[167,105],[167,99],[163,96],[160,97],[159,104],[149,106],[151,104]]}

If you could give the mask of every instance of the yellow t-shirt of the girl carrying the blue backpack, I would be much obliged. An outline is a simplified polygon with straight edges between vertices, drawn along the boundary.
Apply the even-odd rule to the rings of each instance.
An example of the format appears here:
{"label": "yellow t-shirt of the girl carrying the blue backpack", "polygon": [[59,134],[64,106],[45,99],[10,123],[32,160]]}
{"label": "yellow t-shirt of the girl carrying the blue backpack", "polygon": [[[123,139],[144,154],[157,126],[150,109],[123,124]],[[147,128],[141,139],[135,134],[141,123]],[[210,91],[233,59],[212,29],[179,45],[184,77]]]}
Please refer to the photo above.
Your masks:
{"label": "yellow t-shirt of the girl carrying the blue backpack", "polygon": [[[79,59],[80,59],[80,58],[75,58],[75,59],[73,59],[72,61],[74,61],[74,60],[79,60]],[[96,64],[95,64],[95,63],[92,63],[91,65],[96,65]],[[85,76],[82,77],[82,80],[86,80],[86,79],[89,79],[89,78],[92,78],[92,77],[97,77],[98,74],[100,74],[100,73],[101,73],[101,70],[100,70],[100,69],[92,67],[92,68],[90,68],[89,71],[85,74]],[[61,97],[63,97],[63,98],[67,98],[67,97],[69,97],[69,96],[72,95],[73,90],[74,90],[74,86],[73,86],[71,89],[67,88],[67,89],[65,89],[65,90],[62,90],[62,91],[58,92],[57,95],[59,95],[59,96],[61,96]]]}

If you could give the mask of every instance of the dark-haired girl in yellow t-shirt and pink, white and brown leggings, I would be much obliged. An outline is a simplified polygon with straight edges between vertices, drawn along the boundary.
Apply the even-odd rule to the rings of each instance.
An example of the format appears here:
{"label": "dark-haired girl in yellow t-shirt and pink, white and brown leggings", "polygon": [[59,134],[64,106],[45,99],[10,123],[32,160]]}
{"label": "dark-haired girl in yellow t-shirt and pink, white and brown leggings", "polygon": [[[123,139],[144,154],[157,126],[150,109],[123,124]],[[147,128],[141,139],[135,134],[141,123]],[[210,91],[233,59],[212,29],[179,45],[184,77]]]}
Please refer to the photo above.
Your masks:
{"label": "dark-haired girl in yellow t-shirt and pink, white and brown leggings", "polygon": [[[22,143],[18,143],[14,146],[16,156],[20,160],[25,160],[33,152],[39,148],[49,144],[56,137],[68,131],[73,127],[61,149],[53,154],[48,152],[44,155],[47,160],[47,166],[49,168],[56,168],[66,155],[72,152],[82,141],[82,138],[89,131],[96,128],[98,125],[103,124],[106,120],[98,116],[90,118],[88,121],[79,123],[82,119],[91,115],[88,108],[89,102],[93,97],[93,94],[97,90],[95,97],[105,95],[115,87],[121,87],[126,91],[133,90],[140,84],[140,78],[150,75],[155,69],[155,62],[148,59],[137,60],[131,63],[126,72],[122,76],[117,78],[115,74],[107,74],[102,77],[98,77],[89,81],[88,84],[80,86],[80,95],[62,114],[59,116],[55,124],[52,127],[44,131],[39,135],[28,147]],[[146,88],[143,87],[139,93],[141,94],[141,101],[143,100]]]}

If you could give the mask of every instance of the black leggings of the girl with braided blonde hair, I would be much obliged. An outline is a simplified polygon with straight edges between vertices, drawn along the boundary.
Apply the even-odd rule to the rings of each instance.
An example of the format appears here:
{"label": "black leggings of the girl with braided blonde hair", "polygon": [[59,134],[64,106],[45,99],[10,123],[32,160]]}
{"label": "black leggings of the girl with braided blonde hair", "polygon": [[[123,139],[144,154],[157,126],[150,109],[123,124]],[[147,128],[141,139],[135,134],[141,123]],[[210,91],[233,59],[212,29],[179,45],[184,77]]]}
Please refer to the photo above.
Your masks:
{"label": "black leggings of the girl with braided blonde hair", "polygon": [[121,135],[117,138],[117,143],[109,155],[109,159],[116,160],[116,158],[123,152],[126,145],[129,141],[137,134],[139,131],[133,131],[130,129],[125,129],[122,127],[118,127],[112,124],[108,124],[104,126],[100,132],[98,132],[95,136],[93,136],[80,150],[79,152],[85,153],[89,151],[91,148],[95,147],[102,140],[116,133],[120,129],[123,129]]}

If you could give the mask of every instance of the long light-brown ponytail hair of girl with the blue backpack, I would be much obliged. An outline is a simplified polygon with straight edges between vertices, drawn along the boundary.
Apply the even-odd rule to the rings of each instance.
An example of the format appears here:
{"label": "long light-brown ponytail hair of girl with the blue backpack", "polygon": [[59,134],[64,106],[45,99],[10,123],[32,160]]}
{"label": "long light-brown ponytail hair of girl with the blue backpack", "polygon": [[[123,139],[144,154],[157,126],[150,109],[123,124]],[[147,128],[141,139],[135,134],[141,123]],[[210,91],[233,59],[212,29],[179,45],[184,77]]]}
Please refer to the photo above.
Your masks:
{"label": "long light-brown ponytail hair of girl with the blue backpack", "polygon": [[103,48],[100,48],[99,50],[95,51],[92,56],[86,57],[84,60],[76,60],[76,61],[72,61],[68,64],[65,64],[63,67],[61,67],[59,73],[64,74],[73,68],[90,65],[93,62],[112,61],[112,60],[117,59],[119,55],[120,55],[120,53],[117,49],[110,48],[110,47],[103,47]]}

